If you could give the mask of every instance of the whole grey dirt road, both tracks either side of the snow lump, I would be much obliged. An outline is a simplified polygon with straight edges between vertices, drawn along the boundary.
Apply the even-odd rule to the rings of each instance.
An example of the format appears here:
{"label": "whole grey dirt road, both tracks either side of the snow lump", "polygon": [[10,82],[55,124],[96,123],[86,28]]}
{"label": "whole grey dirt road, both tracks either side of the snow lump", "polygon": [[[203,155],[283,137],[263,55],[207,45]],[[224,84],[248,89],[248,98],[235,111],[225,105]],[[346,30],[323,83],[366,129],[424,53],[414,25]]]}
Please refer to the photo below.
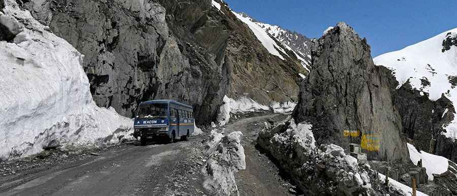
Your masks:
{"label": "whole grey dirt road, both tracks either side of the snow lump", "polygon": [[[276,166],[255,149],[263,115],[229,124],[225,132],[242,131],[247,169],[237,174],[241,195],[289,195],[289,184]],[[0,195],[203,195],[203,136],[172,144],[137,142],[72,163],[23,170],[0,177]]]}

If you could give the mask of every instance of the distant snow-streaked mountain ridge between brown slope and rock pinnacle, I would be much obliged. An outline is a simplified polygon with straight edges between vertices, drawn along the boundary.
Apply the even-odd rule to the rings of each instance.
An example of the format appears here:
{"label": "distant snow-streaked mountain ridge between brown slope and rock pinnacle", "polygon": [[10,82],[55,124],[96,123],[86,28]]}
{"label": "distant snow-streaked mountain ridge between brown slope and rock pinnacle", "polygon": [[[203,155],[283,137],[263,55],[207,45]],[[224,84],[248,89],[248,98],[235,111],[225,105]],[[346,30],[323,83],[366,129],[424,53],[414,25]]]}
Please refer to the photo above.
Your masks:
{"label": "distant snow-streaked mountain ridge between brown slope and rock pinnacle", "polygon": [[[281,47],[277,46],[275,43],[276,41],[280,42],[287,50],[291,50],[293,51],[293,53],[295,53],[295,55],[301,61],[301,64],[306,70],[310,70],[312,40],[298,32],[292,32],[290,30],[283,29],[277,25],[271,25],[257,21],[249,15],[247,15],[246,13],[234,12],[234,14],[238,17],[238,19],[248,24],[249,28],[251,28],[254,34],[256,34],[260,42],[265,43],[266,40],[270,40],[272,46],[275,46],[274,48],[281,50]],[[263,31],[265,31],[266,33],[260,32],[262,31],[261,29],[263,29]],[[272,47],[266,46],[266,48],[271,48],[271,50],[274,51],[274,48]],[[285,53],[283,50],[281,52]],[[280,58],[283,57],[281,56]]]}

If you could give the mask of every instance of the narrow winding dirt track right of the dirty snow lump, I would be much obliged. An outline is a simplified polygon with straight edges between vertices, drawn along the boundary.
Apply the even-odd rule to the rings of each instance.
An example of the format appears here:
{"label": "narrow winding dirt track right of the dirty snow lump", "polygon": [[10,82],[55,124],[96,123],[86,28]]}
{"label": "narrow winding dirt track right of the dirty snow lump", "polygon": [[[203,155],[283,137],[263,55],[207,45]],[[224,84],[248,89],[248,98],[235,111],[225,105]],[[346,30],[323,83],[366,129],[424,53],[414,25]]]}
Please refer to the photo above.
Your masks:
{"label": "narrow winding dirt track right of the dirty snow lump", "polygon": [[258,133],[264,128],[265,123],[279,122],[289,114],[267,114],[241,119],[228,124],[225,133],[241,131],[243,133],[242,145],[246,155],[246,170],[236,174],[240,195],[295,195],[296,186],[284,180],[277,166],[255,145]]}

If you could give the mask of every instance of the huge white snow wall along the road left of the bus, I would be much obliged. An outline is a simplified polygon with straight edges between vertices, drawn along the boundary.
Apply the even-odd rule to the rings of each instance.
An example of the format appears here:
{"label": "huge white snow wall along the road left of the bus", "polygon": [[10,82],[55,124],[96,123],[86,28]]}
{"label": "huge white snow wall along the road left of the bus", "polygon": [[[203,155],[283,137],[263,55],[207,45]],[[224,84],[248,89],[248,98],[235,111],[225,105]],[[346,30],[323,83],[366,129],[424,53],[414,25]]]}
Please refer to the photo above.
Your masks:
{"label": "huge white snow wall along the road left of the bus", "polygon": [[5,0],[3,13],[2,24],[15,24],[20,33],[12,43],[0,42],[0,160],[38,153],[50,142],[92,145],[131,137],[132,120],[93,102],[75,48],[15,1]]}

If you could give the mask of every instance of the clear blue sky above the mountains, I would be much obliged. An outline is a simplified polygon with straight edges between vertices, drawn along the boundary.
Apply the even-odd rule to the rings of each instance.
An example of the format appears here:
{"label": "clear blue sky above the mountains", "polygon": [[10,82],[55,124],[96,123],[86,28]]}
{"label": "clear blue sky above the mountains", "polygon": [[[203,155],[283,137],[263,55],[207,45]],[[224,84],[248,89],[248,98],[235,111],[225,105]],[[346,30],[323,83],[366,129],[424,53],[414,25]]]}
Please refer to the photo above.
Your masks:
{"label": "clear blue sky above the mountains", "polygon": [[425,0],[224,0],[236,12],[308,37],[344,21],[367,37],[372,56],[457,28],[457,2]]}

